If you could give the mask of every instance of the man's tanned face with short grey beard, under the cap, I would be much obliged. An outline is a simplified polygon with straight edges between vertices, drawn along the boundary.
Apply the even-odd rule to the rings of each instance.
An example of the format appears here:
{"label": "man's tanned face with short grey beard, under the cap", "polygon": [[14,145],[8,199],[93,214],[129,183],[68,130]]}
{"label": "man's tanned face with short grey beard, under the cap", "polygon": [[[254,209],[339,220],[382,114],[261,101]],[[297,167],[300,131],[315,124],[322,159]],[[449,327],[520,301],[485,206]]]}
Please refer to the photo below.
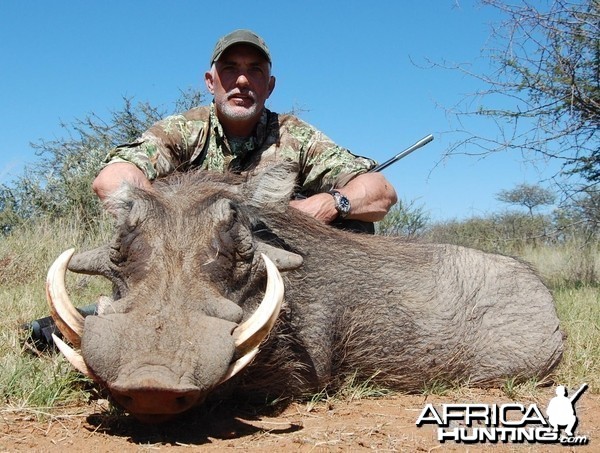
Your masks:
{"label": "man's tanned face with short grey beard, under the cap", "polygon": [[236,123],[251,123],[253,128],[275,87],[265,56],[245,44],[227,49],[206,73],[205,81],[226,131],[237,130]]}

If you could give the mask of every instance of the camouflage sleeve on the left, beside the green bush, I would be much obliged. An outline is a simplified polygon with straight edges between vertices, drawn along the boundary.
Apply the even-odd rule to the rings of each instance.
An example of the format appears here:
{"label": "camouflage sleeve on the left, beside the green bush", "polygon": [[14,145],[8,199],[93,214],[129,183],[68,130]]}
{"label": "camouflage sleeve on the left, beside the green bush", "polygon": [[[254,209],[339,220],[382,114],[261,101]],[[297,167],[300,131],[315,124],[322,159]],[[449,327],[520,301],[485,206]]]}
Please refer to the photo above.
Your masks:
{"label": "camouflage sleeve on the left, beside the green bush", "polygon": [[201,139],[204,123],[191,121],[184,115],[173,115],[159,121],[132,143],[112,149],[105,165],[129,162],[144,172],[149,180],[165,176],[187,163]]}

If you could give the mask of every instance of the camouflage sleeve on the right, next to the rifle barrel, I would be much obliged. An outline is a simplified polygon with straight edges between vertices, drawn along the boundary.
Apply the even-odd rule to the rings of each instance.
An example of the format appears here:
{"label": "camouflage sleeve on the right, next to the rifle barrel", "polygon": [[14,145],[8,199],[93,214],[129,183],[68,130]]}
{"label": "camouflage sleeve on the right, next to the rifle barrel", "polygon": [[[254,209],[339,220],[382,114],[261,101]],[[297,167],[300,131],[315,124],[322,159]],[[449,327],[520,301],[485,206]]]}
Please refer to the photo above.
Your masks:
{"label": "camouflage sleeve on the right, next to the rifle barrel", "polygon": [[306,146],[301,184],[306,192],[324,192],[345,186],[355,176],[366,173],[377,163],[356,156],[336,145],[322,132],[312,128]]}

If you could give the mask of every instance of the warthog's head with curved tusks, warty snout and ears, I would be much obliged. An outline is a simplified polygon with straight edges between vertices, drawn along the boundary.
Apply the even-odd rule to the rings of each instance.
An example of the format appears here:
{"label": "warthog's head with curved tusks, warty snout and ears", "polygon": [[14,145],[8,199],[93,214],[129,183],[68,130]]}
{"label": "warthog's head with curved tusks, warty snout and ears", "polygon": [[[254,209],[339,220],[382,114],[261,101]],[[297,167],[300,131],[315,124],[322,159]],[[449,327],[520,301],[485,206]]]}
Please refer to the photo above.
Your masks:
{"label": "warthog's head with curved tusks, warty snout and ears", "polygon": [[[252,361],[273,327],[284,291],[278,268],[302,264],[253,233],[252,211],[287,205],[294,180],[282,187],[270,176],[278,171],[289,169],[239,184],[198,174],[152,192],[124,187],[108,206],[114,241],[73,258],[68,250],[50,268],[51,312],[73,347],[57,345],[139,419],[162,421],[201,403]],[[65,290],[67,268],[109,278],[118,296],[83,318]]]}

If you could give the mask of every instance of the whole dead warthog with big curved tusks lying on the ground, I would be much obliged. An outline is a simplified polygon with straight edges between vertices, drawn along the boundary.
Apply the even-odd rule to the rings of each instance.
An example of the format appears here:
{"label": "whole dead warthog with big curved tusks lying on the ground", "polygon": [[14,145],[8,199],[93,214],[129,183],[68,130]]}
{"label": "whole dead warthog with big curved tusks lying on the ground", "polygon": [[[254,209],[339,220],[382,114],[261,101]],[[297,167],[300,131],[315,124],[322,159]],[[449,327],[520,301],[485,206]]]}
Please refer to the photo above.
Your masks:
{"label": "whole dead warthog with big curved tusks lying on the ground", "polygon": [[[288,206],[295,177],[281,165],[124,187],[109,202],[114,241],[49,271],[63,353],[146,421],[223,387],[280,397],[349,374],[406,391],[489,386],[558,363],[553,300],[529,266],[333,229]],[[70,304],[67,267],[114,283],[98,316]]]}

